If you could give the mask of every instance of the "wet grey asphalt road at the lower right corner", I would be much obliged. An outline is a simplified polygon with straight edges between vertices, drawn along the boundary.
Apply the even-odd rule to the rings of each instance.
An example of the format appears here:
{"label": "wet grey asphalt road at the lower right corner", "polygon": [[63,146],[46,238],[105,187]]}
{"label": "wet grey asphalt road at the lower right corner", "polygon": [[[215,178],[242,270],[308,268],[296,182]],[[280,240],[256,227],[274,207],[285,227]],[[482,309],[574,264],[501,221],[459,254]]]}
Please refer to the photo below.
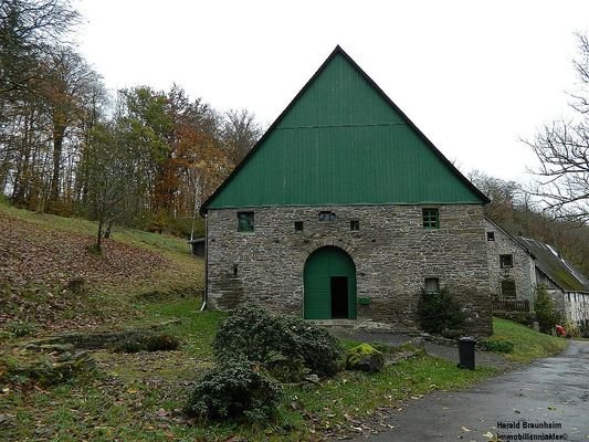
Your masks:
{"label": "wet grey asphalt road at the lower right corner", "polygon": [[[589,341],[571,341],[556,357],[469,390],[428,394],[395,414],[389,423],[395,428],[357,441],[588,442]],[[508,428],[509,424],[519,428]],[[530,429],[529,424],[545,428]],[[546,428],[549,425],[553,428]],[[544,435],[567,439],[533,439]]]}

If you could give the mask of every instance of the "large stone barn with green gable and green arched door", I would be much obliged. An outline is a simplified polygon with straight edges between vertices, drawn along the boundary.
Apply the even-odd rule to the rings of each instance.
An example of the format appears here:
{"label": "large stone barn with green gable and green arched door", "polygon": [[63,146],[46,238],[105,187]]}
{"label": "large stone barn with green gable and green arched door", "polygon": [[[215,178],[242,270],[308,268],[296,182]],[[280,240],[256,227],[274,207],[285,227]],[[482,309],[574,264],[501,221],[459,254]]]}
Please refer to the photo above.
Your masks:
{"label": "large stone barn with green gable and green arched door", "polygon": [[486,202],[337,46],[201,208],[208,306],[413,330],[448,287],[490,334]]}

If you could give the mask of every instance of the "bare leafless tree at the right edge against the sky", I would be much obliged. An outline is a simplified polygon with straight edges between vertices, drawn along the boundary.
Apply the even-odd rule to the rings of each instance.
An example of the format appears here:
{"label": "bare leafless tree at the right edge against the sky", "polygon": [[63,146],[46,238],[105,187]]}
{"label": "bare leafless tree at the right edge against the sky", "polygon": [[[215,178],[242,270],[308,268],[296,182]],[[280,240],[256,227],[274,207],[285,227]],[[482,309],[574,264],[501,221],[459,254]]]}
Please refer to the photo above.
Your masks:
{"label": "bare leafless tree at the right edge against the sky", "polygon": [[526,141],[540,160],[533,193],[555,218],[589,223],[589,41],[578,35],[580,56],[575,67],[581,82],[571,94],[575,117],[546,125]]}

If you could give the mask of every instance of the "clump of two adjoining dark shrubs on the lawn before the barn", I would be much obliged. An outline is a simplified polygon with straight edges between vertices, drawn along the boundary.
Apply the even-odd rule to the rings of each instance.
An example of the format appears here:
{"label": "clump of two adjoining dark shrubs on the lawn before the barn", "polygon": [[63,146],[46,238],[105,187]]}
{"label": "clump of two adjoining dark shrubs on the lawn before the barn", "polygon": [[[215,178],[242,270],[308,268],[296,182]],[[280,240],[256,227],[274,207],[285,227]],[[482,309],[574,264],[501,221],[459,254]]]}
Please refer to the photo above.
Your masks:
{"label": "clump of two adjoining dark shrubs on the lawn before the barn", "polygon": [[215,367],[199,380],[186,411],[200,419],[263,422],[276,409],[276,379],[299,381],[309,372],[341,369],[339,339],[303,319],[271,315],[254,305],[234,309],[213,340]]}

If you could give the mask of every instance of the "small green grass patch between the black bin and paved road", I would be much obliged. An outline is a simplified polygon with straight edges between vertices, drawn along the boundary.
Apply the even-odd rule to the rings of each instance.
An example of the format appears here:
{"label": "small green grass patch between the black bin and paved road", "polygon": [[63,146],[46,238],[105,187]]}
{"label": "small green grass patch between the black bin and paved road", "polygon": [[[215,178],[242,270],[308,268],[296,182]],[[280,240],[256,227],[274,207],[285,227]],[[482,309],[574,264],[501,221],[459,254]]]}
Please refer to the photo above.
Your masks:
{"label": "small green grass patch between the black bin and paved road", "polygon": [[501,318],[493,318],[493,336],[514,343],[514,351],[506,357],[518,362],[545,358],[567,348],[567,341],[562,338],[545,335]]}

